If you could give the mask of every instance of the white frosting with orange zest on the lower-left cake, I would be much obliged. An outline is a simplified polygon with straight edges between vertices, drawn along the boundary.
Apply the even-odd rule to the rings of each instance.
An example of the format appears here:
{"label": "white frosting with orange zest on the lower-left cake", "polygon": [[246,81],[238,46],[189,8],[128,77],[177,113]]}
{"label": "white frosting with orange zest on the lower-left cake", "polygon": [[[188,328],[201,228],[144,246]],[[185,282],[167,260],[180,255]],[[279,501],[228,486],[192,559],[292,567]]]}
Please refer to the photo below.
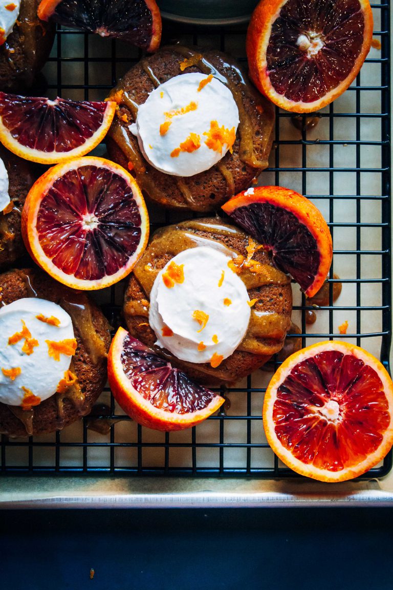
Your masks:
{"label": "white frosting with orange zest on the lower-left cake", "polygon": [[[53,316],[60,320],[60,324],[55,326],[37,319],[41,314],[47,319]],[[30,342],[30,346],[26,346],[27,339],[21,337],[19,342],[9,343],[9,338],[15,334],[27,334],[23,322],[35,342]],[[22,405],[29,395],[28,392],[39,397],[41,401],[55,394],[64,373],[70,368],[72,355],[60,352],[59,360],[49,356],[49,345],[46,340],[61,342],[73,339],[71,317],[52,301],[28,297],[1,307],[0,402]],[[11,376],[7,376],[10,369],[16,369],[19,373],[14,379],[11,378],[12,373]]]}

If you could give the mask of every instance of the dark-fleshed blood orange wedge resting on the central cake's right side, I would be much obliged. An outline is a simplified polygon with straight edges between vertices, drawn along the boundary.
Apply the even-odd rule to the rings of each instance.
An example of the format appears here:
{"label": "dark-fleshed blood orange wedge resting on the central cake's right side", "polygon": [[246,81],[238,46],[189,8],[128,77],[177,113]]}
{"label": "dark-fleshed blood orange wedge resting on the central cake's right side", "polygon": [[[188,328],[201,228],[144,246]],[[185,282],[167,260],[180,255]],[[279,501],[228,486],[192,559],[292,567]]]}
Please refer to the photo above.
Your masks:
{"label": "dark-fleshed blood orange wedge resting on the central cake's right side", "polygon": [[256,186],[222,208],[272,252],[273,264],[290,274],[306,296],[321,289],[332,264],[332,237],[309,199],[282,186]]}

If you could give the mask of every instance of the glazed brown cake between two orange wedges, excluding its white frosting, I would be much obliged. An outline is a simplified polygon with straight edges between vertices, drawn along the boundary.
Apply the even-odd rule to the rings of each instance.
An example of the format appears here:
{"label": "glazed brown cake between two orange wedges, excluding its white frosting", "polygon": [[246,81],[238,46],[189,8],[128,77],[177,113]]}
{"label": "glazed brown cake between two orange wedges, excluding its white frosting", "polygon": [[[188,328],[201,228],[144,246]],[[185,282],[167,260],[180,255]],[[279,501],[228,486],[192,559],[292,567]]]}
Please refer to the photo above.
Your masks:
{"label": "glazed brown cake between two orange wedges, excluding its white frosting", "polygon": [[[158,348],[156,334],[148,323],[150,292],[159,271],[177,254],[197,246],[224,250],[232,257],[250,300],[256,299],[245,337],[216,368],[210,363],[180,360]],[[272,266],[269,253],[259,246],[245,232],[218,217],[185,221],[156,231],[134,267],[126,291],[124,317],[131,335],[207,385],[233,383],[255,371],[282,349],[292,312],[290,278]]]}

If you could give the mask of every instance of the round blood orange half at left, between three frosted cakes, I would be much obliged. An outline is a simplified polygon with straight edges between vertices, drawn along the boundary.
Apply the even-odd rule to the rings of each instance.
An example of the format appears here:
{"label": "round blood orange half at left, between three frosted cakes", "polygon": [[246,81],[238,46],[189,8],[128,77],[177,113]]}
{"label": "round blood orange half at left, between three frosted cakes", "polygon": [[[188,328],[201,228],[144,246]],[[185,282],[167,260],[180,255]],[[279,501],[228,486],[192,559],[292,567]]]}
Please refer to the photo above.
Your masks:
{"label": "round blood orange half at left, between three frosted cakes", "polygon": [[103,289],[131,272],[148,239],[140,189],[124,168],[87,156],[50,168],[30,189],[22,237],[32,258],[74,289]]}

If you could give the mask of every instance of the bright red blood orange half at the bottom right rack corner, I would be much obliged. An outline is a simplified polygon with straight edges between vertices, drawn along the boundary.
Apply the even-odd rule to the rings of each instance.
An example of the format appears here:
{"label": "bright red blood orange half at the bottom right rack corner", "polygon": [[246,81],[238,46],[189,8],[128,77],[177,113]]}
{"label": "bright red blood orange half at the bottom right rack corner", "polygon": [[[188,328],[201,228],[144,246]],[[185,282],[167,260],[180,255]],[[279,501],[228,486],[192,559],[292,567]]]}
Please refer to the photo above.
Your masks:
{"label": "bright red blood orange half at the bottom right rack corner", "polygon": [[288,467],[345,481],[375,467],[393,443],[393,383],[371,354],[346,342],[296,352],[270,381],[267,441]]}

